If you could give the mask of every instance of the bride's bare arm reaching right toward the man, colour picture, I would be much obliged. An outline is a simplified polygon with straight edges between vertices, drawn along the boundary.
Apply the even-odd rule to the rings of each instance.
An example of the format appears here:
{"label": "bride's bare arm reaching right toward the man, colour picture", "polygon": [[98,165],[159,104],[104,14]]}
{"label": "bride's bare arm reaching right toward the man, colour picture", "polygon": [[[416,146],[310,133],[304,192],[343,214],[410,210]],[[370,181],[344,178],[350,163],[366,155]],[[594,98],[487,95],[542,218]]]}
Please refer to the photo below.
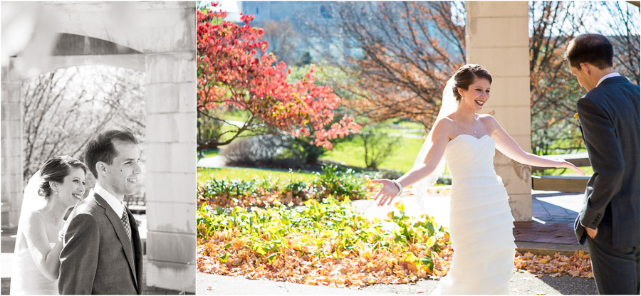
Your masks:
{"label": "bride's bare arm reaching right toward the man, colour picture", "polygon": [[584,171],[563,159],[546,159],[523,151],[516,141],[505,131],[505,129],[499,125],[499,122],[497,122],[494,117],[491,115],[484,115],[484,120],[486,120],[486,127],[489,127],[491,131],[490,136],[494,139],[494,142],[496,142],[496,149],[505,154],[506,157],[529,166],[567,168],[572,169],[577,174],[585,175]]}

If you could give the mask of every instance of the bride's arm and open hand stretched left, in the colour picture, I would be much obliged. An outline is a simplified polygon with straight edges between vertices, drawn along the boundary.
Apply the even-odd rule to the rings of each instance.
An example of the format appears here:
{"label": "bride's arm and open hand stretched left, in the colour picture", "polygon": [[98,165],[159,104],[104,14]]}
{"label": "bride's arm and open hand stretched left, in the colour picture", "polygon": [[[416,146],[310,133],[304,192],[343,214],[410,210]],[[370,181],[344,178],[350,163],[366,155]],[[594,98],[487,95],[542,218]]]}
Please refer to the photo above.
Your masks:
{"label": "bride's arm and open hand stretched left, in the colour picture", "polygon": [[[413,167],[396,180],[402,188],[415,184],[417,181],[429,176],[439,165],[445,153],[447,142],[449,142],[448,134],[450,134],[450,129],[452,129],[452,123],[448,120],[440,120],[434,125],[433,129],[432,138],[427,139],[428,141],[432,141],[432,147],[430,147],[427,152],[424,162],[421,165]],[[387,202],[387,204],[392,203],[392,200],[399,193],[397,186],[392,180],[378,179],[374,180],[373,183],[383,184],[382,189],[380,189],[374,197],[374,200],[378,201],[379,206],[382,206],[385,202]]]}

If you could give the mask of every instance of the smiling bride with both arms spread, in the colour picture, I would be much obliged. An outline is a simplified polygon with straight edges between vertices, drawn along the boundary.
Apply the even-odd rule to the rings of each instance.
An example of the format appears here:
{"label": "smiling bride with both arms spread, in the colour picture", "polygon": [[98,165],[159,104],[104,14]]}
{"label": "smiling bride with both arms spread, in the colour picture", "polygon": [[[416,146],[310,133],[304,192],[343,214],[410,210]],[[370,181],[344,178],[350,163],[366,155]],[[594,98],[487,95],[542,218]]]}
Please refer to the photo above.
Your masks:
{"label": "smiling bride with both arms spread, in the colour picture", "polygon": [[450,237],[454,257],[436,294],[510,294],[514,271],[514,218],[509,196],[494,171],[494,149],[521,164],[569,168],[573,164],[526,153],[491,115],[476,112],[489,100],[492,77],[481,65],[464,65],[449,79],[442,108],[415,166],[397,180],[380,179],[379,206],[414,184],[417,202],[444,169],[452,174]]}

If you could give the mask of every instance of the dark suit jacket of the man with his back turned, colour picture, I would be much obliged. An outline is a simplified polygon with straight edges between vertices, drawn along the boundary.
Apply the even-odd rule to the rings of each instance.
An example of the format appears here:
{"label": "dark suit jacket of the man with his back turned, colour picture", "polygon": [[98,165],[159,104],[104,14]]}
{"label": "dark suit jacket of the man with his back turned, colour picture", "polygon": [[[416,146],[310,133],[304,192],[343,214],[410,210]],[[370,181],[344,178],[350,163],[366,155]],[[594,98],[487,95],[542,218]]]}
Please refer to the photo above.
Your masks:
{"label": "dark suit jacket of the man with his back turned, colour picture", "polygon": [[[639,85],[624,77],[603,80],[576,104],[594,175],[585,189],[575,233],[585,243],[585,227],[612,227],[614,248],[640,241]],[[581,226],[580,224],[583,224]],[[598,236],[599,234],[597,234]]]}

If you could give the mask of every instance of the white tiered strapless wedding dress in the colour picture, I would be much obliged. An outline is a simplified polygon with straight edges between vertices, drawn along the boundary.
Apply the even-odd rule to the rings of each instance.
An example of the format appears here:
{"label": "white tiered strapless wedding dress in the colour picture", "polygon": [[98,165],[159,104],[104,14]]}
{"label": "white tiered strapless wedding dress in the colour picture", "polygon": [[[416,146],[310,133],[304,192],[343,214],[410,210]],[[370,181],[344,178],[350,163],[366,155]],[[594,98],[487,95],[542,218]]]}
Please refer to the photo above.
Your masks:
{"label": "white tiered strapless wedding dress in the colour picture", "polygon": [[514,218],[494,171],[494,139],[461,134],[447,143],[452,175],[449,234],[454,258],[436,294],[510,294]]}

